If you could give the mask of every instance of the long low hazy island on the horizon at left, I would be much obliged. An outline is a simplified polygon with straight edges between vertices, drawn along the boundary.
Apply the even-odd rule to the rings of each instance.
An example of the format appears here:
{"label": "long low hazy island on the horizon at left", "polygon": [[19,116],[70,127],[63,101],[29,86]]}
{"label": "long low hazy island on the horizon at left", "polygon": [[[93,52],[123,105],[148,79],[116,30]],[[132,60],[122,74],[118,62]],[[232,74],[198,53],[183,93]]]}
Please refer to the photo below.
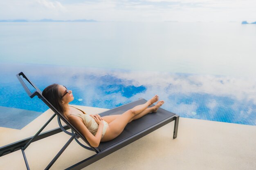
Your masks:
{"label": "long low hazy island on the horizon at left", "polygon": [[96,20],[52,20],[52,19],[43,19],[43,20],[0,20],[0,22],[98,22]]}

